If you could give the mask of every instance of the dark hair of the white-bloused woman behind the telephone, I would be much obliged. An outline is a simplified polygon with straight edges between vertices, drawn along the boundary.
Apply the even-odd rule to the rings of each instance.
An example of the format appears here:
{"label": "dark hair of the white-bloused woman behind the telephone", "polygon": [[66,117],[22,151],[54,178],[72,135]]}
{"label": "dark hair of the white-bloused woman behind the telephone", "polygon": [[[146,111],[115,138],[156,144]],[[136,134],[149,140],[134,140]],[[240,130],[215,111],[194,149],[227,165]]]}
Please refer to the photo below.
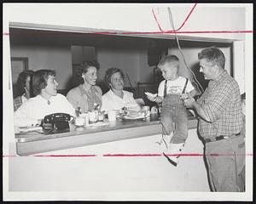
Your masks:
{"label": "dark hair of the white-bloused woman behind the telephone", "polygon": [[54,70],[38,70],[35,71],[32,77],[32,88],[33,93],[37,96],[41,94],[43,88],[47,86],[47,80],[49,76],[55,76],[56,72]]}

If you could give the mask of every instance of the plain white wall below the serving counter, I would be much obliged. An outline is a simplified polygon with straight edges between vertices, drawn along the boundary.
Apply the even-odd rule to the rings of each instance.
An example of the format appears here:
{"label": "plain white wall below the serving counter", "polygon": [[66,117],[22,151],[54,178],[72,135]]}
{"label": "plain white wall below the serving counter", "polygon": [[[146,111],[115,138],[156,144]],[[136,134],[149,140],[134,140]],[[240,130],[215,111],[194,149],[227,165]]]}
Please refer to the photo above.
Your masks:
{"label": "plain white wall below the serving counter", "polygon": [[[166,191],[170,198],[173,191],[209,191],[202,157],[203,144],[196,129],[189,130],[182,153],[198,156],[181,156],[177,167],[173,167],[164,156],[103,156],[161,154],[160,145],[156,143],[160,139],[161,135],[154,135],[37,154],[43,157],[13,157],[9,162],[9,175],[13,175],[9,177],[9,190],[13,193],[41,191],[43,195],[45,191],[84,191],[84,197],[96,192],[98,199],[104,192],[123,192],[125,195],[129,192],[157,194]],[[15,154],[14,150],[11,153]],[[161,200],[162,197],[156,198]]]}

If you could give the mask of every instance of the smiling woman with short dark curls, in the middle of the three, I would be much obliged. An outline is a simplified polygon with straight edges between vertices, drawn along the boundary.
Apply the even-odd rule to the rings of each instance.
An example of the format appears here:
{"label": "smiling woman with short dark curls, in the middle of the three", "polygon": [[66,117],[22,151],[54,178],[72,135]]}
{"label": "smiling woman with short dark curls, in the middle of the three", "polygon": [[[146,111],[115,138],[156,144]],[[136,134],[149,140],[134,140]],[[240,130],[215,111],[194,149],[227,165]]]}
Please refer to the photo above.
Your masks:
{"label": "smiling woman with short dark curls, in the middle of the three", "polygon": [[102,105],[102,89],[96,86],[97,69],[98,65],[90,61],[79,66],[80,85],[67,93],[67,100],[76,111],[84,113]]}

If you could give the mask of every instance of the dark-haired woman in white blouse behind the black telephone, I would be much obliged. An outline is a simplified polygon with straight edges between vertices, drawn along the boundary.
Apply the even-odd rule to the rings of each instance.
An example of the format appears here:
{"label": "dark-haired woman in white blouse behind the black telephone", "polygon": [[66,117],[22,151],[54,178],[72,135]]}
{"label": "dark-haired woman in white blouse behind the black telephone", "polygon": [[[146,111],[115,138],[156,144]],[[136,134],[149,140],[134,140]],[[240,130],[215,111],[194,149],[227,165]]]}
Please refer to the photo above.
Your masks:
{"label": "dark-haired woman in white blouse behind the black telephone", "polygon": [[55,71],[35,71],[32,77],[32,89],[35,97],[27,99],[15,111],[15,127],[38,126],[44,116],[53,113],[67,113],[75,116],[75,110],[66,97],[57,94],[57,86]]}

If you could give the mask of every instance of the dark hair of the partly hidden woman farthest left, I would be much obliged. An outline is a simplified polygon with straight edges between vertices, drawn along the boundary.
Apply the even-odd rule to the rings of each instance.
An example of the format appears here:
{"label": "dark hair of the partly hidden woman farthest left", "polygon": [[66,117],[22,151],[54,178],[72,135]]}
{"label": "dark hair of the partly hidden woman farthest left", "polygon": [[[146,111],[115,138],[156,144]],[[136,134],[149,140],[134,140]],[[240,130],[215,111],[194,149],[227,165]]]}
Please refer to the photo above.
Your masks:
{"label": "dark hair of the partly hidden woman farthest left", "polygon": [[26,79],[28,77],[30,77],[30,94],[32,95],[32,76],[34,74],[34,71],[28,70],[28,71],[22,71],[19,74],[19,77],[17,79],[17,89],[19,94],[18,95],[22,95],[24,93],[26,93],[25,87],[26,87]]}

